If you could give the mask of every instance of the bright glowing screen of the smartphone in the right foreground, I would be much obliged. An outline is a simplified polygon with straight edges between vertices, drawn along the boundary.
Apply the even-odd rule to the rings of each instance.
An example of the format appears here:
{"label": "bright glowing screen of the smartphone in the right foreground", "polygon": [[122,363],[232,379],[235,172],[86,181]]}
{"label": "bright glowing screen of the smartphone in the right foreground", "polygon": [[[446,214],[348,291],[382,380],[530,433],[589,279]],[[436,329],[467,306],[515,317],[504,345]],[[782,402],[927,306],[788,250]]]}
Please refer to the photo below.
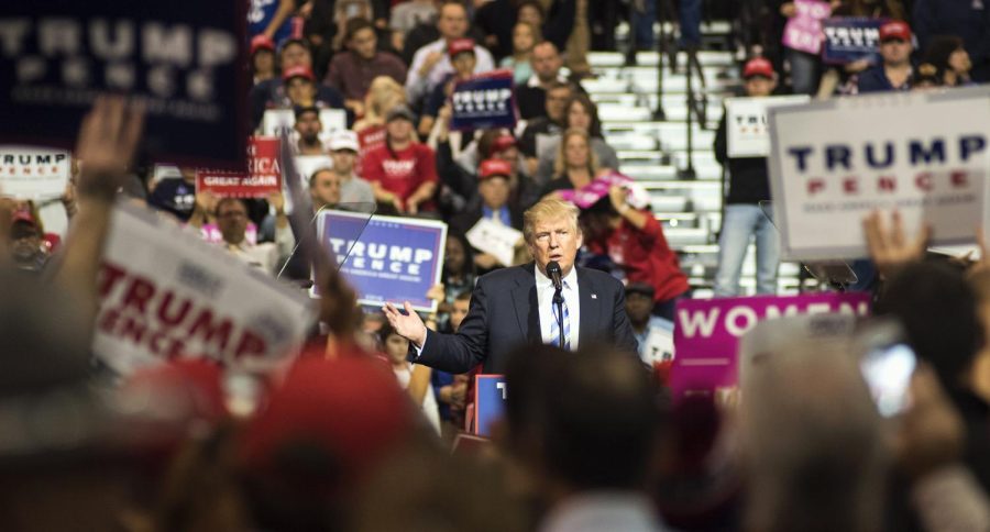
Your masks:
{"label": "bright glowing screen of the smartphone in the right foreground", "polygon": [[904,343],[870,350],[862,358],[860,369],[881,415],[890,418],[908,408],[916,364],[914,351]]}

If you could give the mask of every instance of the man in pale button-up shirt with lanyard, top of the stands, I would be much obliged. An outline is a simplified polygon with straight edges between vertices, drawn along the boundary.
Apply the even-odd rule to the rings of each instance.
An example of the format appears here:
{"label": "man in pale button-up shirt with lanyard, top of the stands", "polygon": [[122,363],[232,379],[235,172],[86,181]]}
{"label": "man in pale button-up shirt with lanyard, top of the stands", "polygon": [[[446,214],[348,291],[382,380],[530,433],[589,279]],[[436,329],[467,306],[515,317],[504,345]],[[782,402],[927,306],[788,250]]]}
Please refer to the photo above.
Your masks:
{"label": "man in pale button-up shirt with lanyard, top of the stands", "polygon": [[[440,38],[416,51],[413,65],[406,78],[406,97],[410,103],[418,103],[439,86],[453,71],[447,48],[457,38],[468,34],[468,10],[459,1],[447,0],[440,7],[437,21]],[[492,54],[482,46],[474,46],[477,59],[474,73],[484,73],[495,68]]]}

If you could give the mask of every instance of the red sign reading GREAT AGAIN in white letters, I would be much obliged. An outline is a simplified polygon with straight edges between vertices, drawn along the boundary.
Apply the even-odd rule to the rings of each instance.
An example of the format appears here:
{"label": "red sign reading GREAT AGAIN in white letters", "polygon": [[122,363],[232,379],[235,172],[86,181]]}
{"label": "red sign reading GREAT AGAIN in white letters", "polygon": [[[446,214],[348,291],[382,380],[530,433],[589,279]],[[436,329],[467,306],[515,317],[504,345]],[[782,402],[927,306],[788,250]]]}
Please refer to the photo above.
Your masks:
{"label": "red sign reading GREAT AGAIN in white letters", "polygon": [[248,174],[196,169],[196,191],[220,198],[266,198],[282,191],[279,138],[253,136],[248,140]]}

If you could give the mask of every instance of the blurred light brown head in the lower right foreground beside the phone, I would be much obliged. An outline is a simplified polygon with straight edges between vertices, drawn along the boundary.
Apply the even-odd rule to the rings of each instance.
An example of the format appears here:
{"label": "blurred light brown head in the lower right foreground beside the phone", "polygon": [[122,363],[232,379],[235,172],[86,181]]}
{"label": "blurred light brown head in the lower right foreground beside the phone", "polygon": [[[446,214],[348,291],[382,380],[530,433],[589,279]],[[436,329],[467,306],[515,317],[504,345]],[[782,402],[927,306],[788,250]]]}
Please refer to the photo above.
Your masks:
{"label": "blurred light brown head in the lower right foreground beside the phone", "polygon": [[847,348],[782,346],[741,402],[746,530],[879,530],[881,419]]}

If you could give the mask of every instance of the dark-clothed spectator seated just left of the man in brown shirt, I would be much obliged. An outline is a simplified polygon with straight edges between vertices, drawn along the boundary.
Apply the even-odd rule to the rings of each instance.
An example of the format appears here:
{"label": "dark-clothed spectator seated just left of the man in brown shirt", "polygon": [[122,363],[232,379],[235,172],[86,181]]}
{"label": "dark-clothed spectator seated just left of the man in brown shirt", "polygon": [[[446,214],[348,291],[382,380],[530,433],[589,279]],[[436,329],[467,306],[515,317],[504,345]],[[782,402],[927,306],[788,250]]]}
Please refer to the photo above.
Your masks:
{"label": "dark-clothed spectator seated just left of the man in brown shirt", "polygon": [[[308,78],[312,81],[316,95],[312,96],[315,101],[323,102],[324,107],[331,109],[344,109],[343,98],[340,93],[330,87],[316,85],[316,77],[312,75],[312,55],[309,53],[309,46],[301,38],[290,38],[286,41],[279,49],[279,64],[282,65],[282,78],[273,78],[262,81],[251,88],[248,100],[251,106],[251,129],[256,130],[265,117],[265,110],[286,108],[292,106],[287,96],[284,79],[288,79],[286,75],[292,70],[301,73],[299,68],[305,68],[309,73]],[[301,74],[296,74],[297,76]],[[305,75],[302,75],[305,77]],[[348,113],[348,123],[353,122],[353,114]]]}

